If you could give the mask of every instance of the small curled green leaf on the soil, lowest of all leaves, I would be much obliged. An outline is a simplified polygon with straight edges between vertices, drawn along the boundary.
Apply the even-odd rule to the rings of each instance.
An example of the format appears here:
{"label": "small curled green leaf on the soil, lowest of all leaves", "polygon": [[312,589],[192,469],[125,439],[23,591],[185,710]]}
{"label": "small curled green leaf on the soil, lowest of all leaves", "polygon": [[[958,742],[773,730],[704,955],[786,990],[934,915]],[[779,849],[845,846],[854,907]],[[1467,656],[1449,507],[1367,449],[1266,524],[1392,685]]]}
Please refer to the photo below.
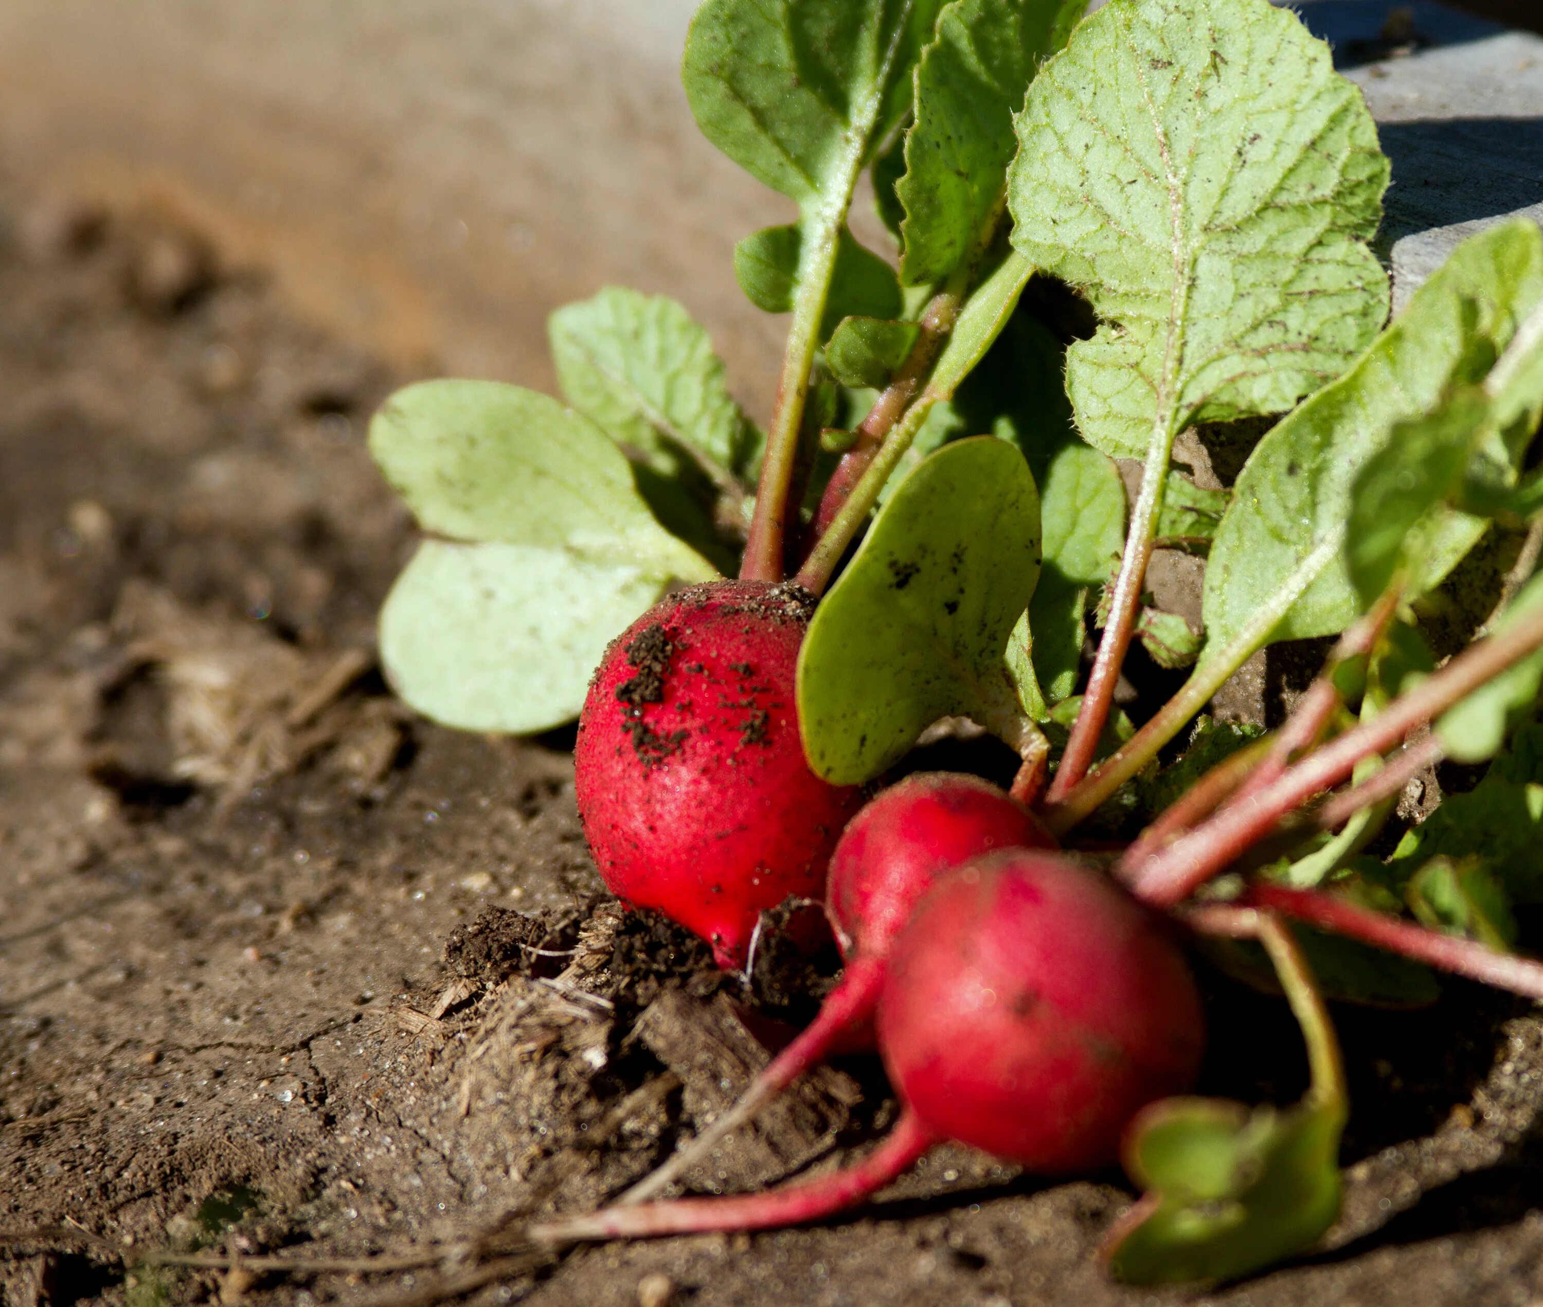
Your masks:
{"label": "small curled green leaf on the soil, lowest of all leaves", "polygon": [[1105,1242],[1128,1284],[1236,1279],[1316,1241],[1339,1214],[1342,1103],[1248,1111],[1163,1099],[1129,1128],[1125,1168],[1146,1197]]}

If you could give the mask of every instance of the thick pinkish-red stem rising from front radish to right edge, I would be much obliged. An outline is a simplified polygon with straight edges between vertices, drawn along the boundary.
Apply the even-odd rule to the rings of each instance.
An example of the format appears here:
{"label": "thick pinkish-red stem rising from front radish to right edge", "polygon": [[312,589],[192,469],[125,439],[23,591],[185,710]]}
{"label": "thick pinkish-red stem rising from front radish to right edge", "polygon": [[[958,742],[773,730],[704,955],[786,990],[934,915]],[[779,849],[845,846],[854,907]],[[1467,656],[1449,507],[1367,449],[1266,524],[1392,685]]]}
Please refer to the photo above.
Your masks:
{"label": "thick pinkish-red stem rising from front radish to right edge", "polygon": [[1469,645],[1386,711],[1308,755],[1258,795],[1234,801],[1167,849],[1142,860],[1123,858],[1120,878],[1145,903],[1173,907],[1247,852],[1288,812],[1344,781],[1362,758],[1392,748],[1415,727],[1450,708],[1540,643],[1543,613],[1523,617],[1501,636]]}

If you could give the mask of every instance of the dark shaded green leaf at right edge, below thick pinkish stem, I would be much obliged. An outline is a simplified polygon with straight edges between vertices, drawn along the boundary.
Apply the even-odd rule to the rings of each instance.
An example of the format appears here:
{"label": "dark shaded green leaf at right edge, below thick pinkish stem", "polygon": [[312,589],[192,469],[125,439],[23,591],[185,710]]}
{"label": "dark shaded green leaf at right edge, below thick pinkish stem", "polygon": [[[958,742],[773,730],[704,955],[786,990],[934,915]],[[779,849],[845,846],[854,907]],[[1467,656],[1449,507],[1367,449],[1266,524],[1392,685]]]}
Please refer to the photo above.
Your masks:
{"label": "dark shaded green leaf at right edge, below thick pinkish stem", "polygon": [[1407,835],[1392,869],[1407,876],[1437,856],[1477,856],[1517,903],[1543,903],[1543,725],[1517,731],[1484,779],[1441,805]]}

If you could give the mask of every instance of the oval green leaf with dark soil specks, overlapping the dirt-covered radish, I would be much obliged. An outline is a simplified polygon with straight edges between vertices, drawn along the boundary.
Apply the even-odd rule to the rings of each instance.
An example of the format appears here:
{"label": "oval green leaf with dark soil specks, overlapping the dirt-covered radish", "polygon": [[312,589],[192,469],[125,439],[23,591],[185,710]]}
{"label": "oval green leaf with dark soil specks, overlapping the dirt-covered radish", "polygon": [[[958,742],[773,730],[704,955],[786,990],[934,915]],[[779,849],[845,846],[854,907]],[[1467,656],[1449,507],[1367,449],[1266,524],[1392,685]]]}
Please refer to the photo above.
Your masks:
{"label": "oval green leaf with dark soil specks, overlapping the dirt-covered radish", "polygon": [[1020,731],[1003,653],[1038,569],[1038,494],[1012,446],[961,440],[906,477],[804,637],[810,767],[861,784],[944,716]]}

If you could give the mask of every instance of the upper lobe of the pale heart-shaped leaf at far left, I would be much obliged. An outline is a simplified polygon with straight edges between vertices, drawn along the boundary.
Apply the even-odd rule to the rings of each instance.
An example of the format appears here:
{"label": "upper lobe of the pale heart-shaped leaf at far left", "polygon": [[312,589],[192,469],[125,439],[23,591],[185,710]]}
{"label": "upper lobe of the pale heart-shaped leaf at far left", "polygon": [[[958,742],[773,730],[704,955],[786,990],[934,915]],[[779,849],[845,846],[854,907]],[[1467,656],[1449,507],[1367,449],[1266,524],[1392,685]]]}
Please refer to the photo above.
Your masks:
{"label": "upper lobe of the pale heart-shaped leaf at far left", "polygon": [[370,423],[370,454],[424,531],[566,549],[656,576],[716,569],[654,520],[594,423],[497,381],[420,381]]}

